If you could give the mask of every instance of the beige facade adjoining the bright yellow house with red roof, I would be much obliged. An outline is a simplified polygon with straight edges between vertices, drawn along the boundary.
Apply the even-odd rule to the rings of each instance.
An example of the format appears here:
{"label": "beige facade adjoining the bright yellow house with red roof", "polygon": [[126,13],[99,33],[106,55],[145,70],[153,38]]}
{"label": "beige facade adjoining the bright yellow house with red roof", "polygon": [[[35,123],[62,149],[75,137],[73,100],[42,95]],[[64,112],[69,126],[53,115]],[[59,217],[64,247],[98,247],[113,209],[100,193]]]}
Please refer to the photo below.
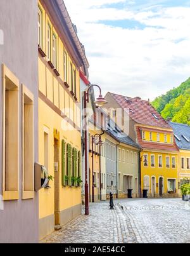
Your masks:
{"label": "beige facade adjoining the bright yellow house with red roof", "polygon": [[139,194],[138,151],[127,145],[118,145],[118,197],[126,198],[127,189],[132,189],[132,196]]}

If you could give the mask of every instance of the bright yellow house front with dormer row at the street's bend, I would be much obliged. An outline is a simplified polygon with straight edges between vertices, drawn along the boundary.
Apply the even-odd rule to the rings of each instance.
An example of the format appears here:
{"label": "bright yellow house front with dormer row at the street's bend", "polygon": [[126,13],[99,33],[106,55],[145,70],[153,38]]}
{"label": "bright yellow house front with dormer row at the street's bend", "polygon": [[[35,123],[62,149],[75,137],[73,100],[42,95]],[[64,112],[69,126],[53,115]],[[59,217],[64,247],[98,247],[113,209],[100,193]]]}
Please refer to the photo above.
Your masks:
{"label": "bright yellow house front with dormer row at the street's bend", "polygon": [[137,127],[141,151],[141,189],[148,197],[178,197],[177,166],[179,151],[170,129]]}

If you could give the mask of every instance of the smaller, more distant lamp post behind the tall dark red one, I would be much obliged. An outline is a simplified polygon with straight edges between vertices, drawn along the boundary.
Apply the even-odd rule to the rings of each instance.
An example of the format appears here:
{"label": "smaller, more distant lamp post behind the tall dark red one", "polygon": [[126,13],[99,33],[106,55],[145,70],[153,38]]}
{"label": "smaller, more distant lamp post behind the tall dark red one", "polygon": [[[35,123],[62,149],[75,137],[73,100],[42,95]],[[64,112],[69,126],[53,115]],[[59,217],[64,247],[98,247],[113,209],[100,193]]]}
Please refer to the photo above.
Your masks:
{"label": "smaller, more distant lamp post behind the tall dark red one", "polygon": [[[96,145],[99,145],[99,159],[101,158],[101,146],[103,145],[103,141],[101,140],[101,135],[103,135],[103,133],[98,134],[96,133],[94,136],[92,136],[92,203],[94,203],[94,143],[95,143],[95,138],[99,137],[99,141],[96,143]],[[99,160],[100,161],[100,160]],[[100,165],[101,162],[99,162]],[[99,171],[101,166],[99,166]],[[101,185],[101,171],[99,172],[99,183]],[[100,195],[100,199],[101,199],[101,187],[99,187],[99,195]]]}

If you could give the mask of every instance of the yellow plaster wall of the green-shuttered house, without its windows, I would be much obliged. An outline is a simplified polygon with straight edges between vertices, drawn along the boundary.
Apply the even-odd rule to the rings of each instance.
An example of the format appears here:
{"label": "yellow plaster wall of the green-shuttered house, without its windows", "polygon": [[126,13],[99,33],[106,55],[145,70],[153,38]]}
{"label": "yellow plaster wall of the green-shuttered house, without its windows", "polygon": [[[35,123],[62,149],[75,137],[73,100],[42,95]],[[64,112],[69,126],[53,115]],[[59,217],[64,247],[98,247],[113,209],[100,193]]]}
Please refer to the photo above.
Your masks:
{"label": "yellow plaster wall of the green-shuttered house, without its windows", "polygon": [[[42,4],[42,50],[47,55],[47,27],[51,27],[51,36],[56,36],[56,69],[60,76],[56,76],[47,63],[48,58],[39,54],[39,163],[44,161],[44,132],[48,134],[48,171],[54,177],[49,182],[49,188],[39,191],[39,238],[53,232],[55,225],[64,225],[81,213],[81,188],[62,185],[61,175],[61,141],[70,144],[72,149],[81,151],[81,116],[80,116],[80,78],[79,67],[75,65],[72,54],[61,41],[61,32],[47,15]],[[63,53],[67,55],[67,72],[64,77]],[[72,69],[75,69],[76,91],[72,95]],[[68,88],[65,86],[65,82]],[[76,99],[77,98],[77,99]],[[56,132],[56,134],[55,134]],[[56,139],[57,149],[54,148]],[[56,160],[54,158],[56,156]],[[66,157],[66,155],[65,155]],[[55,166],[56,165],[56,166]],[[66,168],[66,163],[65,163]]]}

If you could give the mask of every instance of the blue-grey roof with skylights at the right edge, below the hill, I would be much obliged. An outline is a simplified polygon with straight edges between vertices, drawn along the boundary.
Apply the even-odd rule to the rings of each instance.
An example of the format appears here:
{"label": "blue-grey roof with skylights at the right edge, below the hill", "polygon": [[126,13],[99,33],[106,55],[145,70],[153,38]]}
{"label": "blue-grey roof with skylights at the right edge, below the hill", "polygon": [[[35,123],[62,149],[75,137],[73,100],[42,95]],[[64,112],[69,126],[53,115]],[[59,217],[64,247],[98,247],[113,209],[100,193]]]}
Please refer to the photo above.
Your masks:
{"label": "blue-grey roof with skylights at the right edge, below the hill", "polygon": [[175,142],[179,149],[190,150],[190,126],[180,123],[170,122],[174,130]]}

